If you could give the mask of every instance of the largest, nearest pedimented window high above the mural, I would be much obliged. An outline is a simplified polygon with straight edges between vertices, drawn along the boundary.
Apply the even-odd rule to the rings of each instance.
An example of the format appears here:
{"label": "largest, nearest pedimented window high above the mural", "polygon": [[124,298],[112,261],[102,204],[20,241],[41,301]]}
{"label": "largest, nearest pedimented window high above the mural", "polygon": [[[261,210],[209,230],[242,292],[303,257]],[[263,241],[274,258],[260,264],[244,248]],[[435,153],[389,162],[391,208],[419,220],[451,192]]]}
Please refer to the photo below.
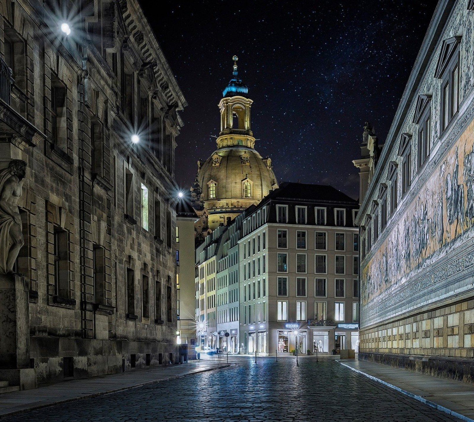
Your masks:
{"label": "largest, nearest pedimented window high above the mural", "polygon": [[459,45],[460,36],[443,42],[435,77],[441,79],[441,129],[444,131],[459,108]]}

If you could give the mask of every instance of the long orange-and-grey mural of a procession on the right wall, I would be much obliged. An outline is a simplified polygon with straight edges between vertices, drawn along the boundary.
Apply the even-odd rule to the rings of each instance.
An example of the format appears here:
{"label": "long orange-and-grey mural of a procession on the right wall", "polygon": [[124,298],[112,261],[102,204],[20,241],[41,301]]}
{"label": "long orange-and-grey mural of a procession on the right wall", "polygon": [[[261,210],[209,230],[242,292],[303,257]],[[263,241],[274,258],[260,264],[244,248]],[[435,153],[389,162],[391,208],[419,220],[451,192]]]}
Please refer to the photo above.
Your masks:
{"label": "long orange-and-grey mural of a procession on the right wall", "polygon": [[474,236],[474,122],[428,177],[397,224],[361,268],[361,305],[400,288]]}

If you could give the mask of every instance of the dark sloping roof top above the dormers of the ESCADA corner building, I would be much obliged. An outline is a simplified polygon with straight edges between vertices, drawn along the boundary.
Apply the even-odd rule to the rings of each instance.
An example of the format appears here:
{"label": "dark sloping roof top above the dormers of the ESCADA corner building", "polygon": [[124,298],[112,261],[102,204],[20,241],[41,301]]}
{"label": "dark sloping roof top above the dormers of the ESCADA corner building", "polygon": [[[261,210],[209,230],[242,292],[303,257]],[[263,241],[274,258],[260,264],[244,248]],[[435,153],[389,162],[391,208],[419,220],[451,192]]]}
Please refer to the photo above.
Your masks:
{"label": "dark sloping roof top above the dormers of the ESCADA corner building", "polygon": [[262,202],[268,199],[285,199],[297,201],[344,202],[358,205],[358,201],[329,185],[310,185],[306,183],[283,182],[279,189],[268,194]]}

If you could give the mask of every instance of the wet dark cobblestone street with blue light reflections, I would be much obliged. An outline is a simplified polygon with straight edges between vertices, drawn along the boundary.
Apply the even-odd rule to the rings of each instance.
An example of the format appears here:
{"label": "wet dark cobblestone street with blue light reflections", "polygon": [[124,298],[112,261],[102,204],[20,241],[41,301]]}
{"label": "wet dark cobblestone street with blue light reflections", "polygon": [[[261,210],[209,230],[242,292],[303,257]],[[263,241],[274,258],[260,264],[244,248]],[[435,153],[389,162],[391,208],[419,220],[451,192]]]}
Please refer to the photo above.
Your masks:
{"label": "wet dark cobblestone street with blue light reflections", "polygon": [[2,421],[459,421],[334,361],[229,361],[237,365]]}

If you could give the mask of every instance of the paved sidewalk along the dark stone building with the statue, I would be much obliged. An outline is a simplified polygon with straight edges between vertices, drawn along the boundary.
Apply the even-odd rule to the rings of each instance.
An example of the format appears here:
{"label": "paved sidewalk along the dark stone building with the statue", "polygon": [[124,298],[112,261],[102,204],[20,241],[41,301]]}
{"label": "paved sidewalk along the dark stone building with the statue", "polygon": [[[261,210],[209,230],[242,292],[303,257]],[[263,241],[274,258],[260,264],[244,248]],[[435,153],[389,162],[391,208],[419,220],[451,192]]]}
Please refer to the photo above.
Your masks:
{"label": "paved sidewalk along the dark stone building with the statue", "polygon": [[50,386],[40,386],[35,390],[5,393],[0,395],[0,418],[5,415],[27,412],[53,404],[114,393],[128,388],[145,386],[159,381],[229,366],[231,364],[227,364],[225,359],[190,360],[182,365],[132,369],[118,374],[74,379]]}

